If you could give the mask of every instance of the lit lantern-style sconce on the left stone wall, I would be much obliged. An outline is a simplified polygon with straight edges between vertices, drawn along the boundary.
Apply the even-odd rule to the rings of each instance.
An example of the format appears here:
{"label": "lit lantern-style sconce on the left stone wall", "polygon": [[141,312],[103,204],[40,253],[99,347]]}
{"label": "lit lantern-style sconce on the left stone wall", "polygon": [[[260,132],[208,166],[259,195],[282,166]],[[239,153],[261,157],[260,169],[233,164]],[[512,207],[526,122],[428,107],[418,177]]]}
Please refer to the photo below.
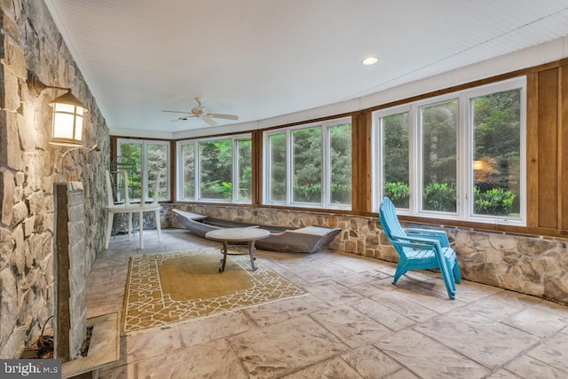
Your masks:
{"label": "lit lantern-style sconce on the left stone wall", "polygon": [[87,112],[87,108],[75,98],[71,89],[45,85],[31,71],[28,71],[28,88],[30,94],[36,97],[48,88],[67,91],[50,102],[50,106],[53,107],[53,121],[49,143],[59,146],[83,146],[83,114]]}

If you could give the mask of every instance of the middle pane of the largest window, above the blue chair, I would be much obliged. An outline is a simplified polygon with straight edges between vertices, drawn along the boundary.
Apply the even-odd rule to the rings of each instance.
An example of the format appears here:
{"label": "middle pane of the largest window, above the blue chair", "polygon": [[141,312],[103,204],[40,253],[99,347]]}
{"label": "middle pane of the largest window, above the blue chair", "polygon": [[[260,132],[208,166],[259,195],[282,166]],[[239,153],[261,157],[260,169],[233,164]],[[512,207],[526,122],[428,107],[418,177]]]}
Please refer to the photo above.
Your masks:
{"label": "middle pane of the largest window, above the blue chair", "polygon": [[456,211],[457,100],[421,108],[422,209]]}

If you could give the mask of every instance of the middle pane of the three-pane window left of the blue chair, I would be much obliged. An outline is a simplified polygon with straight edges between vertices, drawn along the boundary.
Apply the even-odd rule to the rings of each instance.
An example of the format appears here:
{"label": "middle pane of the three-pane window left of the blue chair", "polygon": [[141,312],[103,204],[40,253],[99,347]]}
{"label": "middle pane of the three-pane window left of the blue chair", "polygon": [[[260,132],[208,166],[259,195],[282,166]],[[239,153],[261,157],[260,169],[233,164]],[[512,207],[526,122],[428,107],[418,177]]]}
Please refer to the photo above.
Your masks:
{"label": "middle pane of the three-pane window left of the blue chair", "polygon": [[293,201],[321,203],[321,128],[294,130]]}

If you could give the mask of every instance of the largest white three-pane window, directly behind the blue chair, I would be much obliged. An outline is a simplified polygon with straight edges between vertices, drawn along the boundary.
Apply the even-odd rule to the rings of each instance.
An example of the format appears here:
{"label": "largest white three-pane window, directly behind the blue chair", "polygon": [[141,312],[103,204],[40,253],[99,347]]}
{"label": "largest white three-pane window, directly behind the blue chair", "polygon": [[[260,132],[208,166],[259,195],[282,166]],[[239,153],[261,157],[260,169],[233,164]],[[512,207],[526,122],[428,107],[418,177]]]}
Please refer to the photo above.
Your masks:
{"label": "largest white three-pane window, directly behind the blue chair", "polygon": [[525,79],[374,113],[374,208],[525,225]]}

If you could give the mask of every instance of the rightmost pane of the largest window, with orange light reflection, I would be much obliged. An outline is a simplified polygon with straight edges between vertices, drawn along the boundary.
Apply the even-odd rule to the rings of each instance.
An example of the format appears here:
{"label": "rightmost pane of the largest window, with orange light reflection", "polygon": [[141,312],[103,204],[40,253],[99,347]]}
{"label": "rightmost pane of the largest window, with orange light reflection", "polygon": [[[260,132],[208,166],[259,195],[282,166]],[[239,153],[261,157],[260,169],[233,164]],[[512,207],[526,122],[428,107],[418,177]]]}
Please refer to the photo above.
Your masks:
{"label": "rightmost pane of the largest window, with orange light reflection", "polygon": [[520,217],[521,91],[471,99],[477,215]]}

